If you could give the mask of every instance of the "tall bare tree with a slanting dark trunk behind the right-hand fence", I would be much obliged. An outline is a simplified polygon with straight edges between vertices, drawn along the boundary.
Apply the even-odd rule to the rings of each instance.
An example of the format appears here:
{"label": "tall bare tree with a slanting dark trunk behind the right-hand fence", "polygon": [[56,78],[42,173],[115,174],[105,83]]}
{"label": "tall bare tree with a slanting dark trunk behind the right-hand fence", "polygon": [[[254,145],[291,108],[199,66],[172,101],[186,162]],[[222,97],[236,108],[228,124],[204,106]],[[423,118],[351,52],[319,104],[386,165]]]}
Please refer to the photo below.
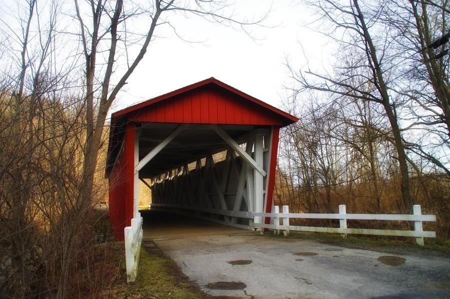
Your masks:
{"label": "tall bare tree with a slanting dark trunk behind the right-hand fence", "polygon": [[[345,55],[343,63],[336,67],[335,75],[321,75],[313,71],[293,71],[292,75],[302,88],[351,96],[359,101],[370,101],[383,107],[397,154],[403,209],[410,211],[413,199],[410,194],[405,145],[398,120],[398,101],[394,100],[389,89],[392,62],[389,57],[392,53],[387,51],[389,41],[379,38],[379,35],[384,33],[383,28],[377,26],[383,5],[377,6],[378,2],[364,3],[361,8],[358,0],[347,4],[332,0],[309,4],[321,15],[322,21],[336,28],[335,31],[338,32],[334,38],[340,43],[340,50],[356,55]],[[373,38],[375,33],[378,35]]]}

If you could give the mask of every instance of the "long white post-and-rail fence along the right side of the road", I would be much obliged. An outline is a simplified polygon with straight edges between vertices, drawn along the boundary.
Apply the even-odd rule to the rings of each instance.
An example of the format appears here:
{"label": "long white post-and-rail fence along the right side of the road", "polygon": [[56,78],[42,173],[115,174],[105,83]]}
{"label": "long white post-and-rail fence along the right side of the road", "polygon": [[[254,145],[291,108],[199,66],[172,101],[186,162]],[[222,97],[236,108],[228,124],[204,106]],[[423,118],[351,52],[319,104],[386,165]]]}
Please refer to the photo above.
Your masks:
{"label": "long white post-and-rail fence along the right side of the road", "polygon": [[[436,221],[435,215],[422,215],[419,205],[413,206],[412,215],[391,215],[391,214],[347,214],[345,205],[339,206],[339,214],[307,214],[307,213],[289,213],[289,207],[283,206],[282,213],[279,213],[278,206],[274,207],[273,213],[253,213],[254,216],[270,217],[273,219],[273,224],[255,223],[253,226],[260,229],[271,229],[275,234],[283,231],[284,235],[288,235],[289,231],[299,232],[322,232],[322,233],[338,233],[342,237],[347,234],[357,235],[376,235],[376,236],[403,236],[415,237],[417,244],[423,246],[423,238],[435,238],[435,232],[423,231],[422,222]],[[329,227],[307,227],[307,226],[292,226],[289,225],[289,219],[338,219],[338,228]],[[282,224],[279,224],[279,220]],[[377,229],[354,229],[347,228],[347,220],[385,220],[385,221],[413,221],[413,231],[401,230],[377,230]]]}

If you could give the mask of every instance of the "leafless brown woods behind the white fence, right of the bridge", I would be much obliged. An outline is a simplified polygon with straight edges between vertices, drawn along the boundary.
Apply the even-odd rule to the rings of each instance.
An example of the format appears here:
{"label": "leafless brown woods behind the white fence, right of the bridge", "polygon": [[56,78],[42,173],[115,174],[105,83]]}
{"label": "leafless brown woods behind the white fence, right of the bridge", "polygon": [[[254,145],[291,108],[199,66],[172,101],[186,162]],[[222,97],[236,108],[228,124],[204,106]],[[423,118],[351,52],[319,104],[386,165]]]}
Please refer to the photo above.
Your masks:
{"label": "leafless brown woods behind the white fence, right of the bridge", "polygon": [[305,4],[336,50],[325,71],[288,65],[295,84],[285,107],[300,121],[283,132],[279,200],[309,212],[344,203],[352,213],[411,213],[420,204],[448,237],[448,1]]}

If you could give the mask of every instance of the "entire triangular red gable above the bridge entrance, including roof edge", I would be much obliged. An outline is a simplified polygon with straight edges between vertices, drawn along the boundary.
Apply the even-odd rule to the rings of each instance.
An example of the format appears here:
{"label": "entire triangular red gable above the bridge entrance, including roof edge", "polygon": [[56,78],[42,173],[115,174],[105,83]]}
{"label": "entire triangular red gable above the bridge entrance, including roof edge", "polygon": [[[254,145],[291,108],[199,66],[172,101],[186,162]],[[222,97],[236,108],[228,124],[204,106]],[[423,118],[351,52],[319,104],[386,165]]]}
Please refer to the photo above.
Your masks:
{"label": "entire triangular red gable above the bridge entrance, including roof edge", "polygon": [[112,114],[135,122],[286,126],[298,119],[209,78]]}

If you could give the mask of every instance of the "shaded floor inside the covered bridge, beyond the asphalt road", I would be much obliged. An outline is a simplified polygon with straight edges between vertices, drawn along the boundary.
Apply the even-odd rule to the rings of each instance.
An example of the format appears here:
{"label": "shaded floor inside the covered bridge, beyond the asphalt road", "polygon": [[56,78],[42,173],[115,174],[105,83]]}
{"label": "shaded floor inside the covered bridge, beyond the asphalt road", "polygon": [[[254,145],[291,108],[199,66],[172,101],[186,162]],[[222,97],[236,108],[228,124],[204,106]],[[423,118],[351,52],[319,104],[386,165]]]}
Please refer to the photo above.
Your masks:
{"label": "shaded floor inside the covered bridge, beyond the asphalt road", "polygon": [[182,238],[186,236],[248,235],[258,234],[238,228],[196,219],[184,215],[142,210],[143,239]]}

